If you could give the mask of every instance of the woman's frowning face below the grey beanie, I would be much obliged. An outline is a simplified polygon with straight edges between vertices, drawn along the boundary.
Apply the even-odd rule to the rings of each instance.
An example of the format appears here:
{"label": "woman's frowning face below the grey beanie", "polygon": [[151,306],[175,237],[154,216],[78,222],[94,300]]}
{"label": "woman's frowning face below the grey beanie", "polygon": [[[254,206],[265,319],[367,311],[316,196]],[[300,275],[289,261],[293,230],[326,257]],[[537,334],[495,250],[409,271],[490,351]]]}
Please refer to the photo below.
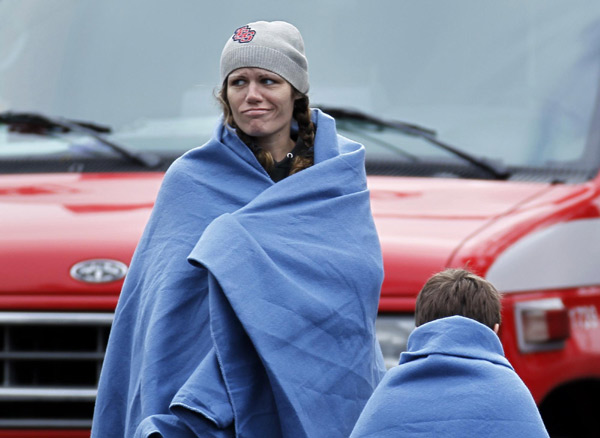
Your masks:
{"label": "woman's frowning face below the grey beanie", "polygon": [[268,70],[240,68],[227,78],[233,120],[261,146],[289,142],[295,98],[293,87]]}

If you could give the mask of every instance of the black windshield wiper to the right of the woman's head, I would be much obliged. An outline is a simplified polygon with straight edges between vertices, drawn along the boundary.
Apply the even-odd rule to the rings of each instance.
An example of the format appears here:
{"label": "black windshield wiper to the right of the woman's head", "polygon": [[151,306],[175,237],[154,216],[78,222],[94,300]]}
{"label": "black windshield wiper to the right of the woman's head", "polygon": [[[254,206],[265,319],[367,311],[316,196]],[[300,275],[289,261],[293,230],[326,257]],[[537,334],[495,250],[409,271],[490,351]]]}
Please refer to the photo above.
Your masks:
{"label": "black windshield wiper to the right of the woman's head", "polygon": [[438,140],[437,132],[433,129],[397,120],[385,120],[376,116],[363,113],[361,111],[349,110],[346,108],[336,108],[329,106],[319,106],[318,108],[320,108],[321,111],[323,111],[324,113],[329,114],[334,119],[350,119],[363,121],[367,123],[372,123],[377,126],[391,128],[400,131],[406,135],[422,138],[428,141],[429,143],[436,145],[441,149],[444,149],[456,155],[457,157],[462,158],[465,161],[468,161],[474,166],[491,174],[496,179],[507,179],[510,176],[508,169],[506,169],[504,166],[495,162],[488,161],[484,158],[477,157],[466,151],[458,149],[455,146],[451,146],[446,142]]}

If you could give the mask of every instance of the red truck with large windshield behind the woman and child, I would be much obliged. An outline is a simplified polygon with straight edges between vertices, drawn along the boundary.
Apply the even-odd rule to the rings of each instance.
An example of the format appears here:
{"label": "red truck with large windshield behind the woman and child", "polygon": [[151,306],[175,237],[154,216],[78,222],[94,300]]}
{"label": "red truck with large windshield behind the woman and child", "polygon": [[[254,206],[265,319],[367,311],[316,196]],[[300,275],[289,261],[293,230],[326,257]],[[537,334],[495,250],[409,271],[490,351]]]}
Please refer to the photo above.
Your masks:
{"label": "red truck with large windshield behind the woman and child", "polygon": [[164,171],[256,19],[299,27],[313,106],[367,149],[388,366],[425,280],[468,266],[551,436],[600,436],[600,4],[0,0],[0,437],[89,435]]}

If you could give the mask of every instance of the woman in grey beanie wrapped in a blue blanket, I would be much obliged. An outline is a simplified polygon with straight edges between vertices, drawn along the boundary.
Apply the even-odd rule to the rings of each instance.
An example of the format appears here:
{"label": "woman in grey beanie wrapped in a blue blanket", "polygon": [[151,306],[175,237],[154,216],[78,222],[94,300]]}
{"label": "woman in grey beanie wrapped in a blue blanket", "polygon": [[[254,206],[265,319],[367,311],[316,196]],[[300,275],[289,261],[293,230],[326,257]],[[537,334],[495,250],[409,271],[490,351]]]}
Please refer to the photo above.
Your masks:
{"label": "woman in grey beanie wrapped in a blue blanket", "polygon": [[136,249],[93,437],[347,437],[383,374],[363,147],[309,110],[292,25],[236,29],[221,76],[223,123]]}

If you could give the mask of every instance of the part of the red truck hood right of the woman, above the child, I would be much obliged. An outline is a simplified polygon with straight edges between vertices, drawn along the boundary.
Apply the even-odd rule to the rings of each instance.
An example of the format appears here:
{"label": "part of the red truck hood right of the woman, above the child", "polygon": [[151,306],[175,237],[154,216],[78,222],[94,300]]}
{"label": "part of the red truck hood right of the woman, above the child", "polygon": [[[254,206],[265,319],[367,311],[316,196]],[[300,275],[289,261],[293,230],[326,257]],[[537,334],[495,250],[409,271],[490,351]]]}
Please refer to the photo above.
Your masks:
{"label": "part of the red truck hood right of the woman, above the child", "polygon": [[[467,240],[535,204],[548,184],[371,177],[372,209],[384,254],[382,305],[411,308],[424,282],[448,267]],[[565,196],[561,189],[561,196]],[[557,194],[558,196],[558,194]]]}

